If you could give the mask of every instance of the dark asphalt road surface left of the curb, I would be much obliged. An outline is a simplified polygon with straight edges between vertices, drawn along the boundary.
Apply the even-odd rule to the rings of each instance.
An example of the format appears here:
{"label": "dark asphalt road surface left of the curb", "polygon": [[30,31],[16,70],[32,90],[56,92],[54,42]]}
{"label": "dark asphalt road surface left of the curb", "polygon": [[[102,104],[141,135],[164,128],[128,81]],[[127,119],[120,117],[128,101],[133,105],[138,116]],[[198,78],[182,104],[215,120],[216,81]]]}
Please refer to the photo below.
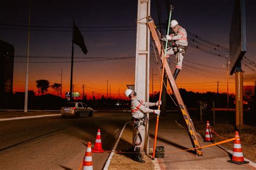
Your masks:
{"label": "dark asphalt road surface left of the curb", "polygon": [[[0,169],[78,169],[88,141],[112,150],[129,112],[94,113],[93,117],[45,117],[2,121]],[[102,169],[110,153],[93,153],[93,168]]]}

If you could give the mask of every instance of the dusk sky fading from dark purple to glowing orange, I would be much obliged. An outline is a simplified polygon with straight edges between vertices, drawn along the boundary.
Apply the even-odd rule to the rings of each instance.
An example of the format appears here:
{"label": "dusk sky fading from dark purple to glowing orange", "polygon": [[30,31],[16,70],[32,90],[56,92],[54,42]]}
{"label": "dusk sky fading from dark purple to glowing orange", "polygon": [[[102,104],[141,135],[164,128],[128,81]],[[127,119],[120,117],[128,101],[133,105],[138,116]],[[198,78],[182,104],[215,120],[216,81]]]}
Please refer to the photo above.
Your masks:
{"label": "dusk sky fading from dark purple to glowing orange", "polygon": [[[126,3],[125,3],[126,2]],[[159,1],[162,21],[166,22],[166,1]],[[224,1],[169,1],[174,6],[172,19],[187,31],[210,42],[229,47],[229,33],[233,2]],[[111,96],[124,93],[127,84],[134,84],[136,55],[136,21],[138,1],[31,1],[29,90],[37,92],[36,80],[46,79],[50,85],[60,83],[63,69],[63,96],[70,89],[72,18],[82,32],[88,53],[75,45],[74,91],[91,98],[92,91],[106,96],[107,80]],[[26,47],[28,40],[27,1],[0,3],[0,39],[15,47],[14,89],[25,90]],[[242,65],[244,85],[254,85],[256,78],[256,12],[255,1],[246,1],[247,52],[254,62],[251,69]],[[151,16],[158,24],[156,0],[151,0]],[[86,28],[85,28],[86,27]],[[163,30],[165,32],[165,30]],[[163,33],[165,35],[165,33]],[[190,41],[188,42],[190,44]],[[152,44],[152,42],[151,42]],[[153,49],[151,47],[151,53]],[[98,60],[98,61],[97,61]],[[102,61],[99,61],[102,60]],[[193,47],[188,47],[177,85],[187,91],[227,91],[226,59]],[[249,64],[249,63],[245,63]],[[251,63],[252,64],[252,63]],[[174,66],[174,58],[173,58]],[[160,90],[160,72],[156,57],[150,60],[150,93]],[[252,71],[254,69],[254,71]],[[174,71],[174,67],[172,67]],[[229,92],[235,92],[235,76],[229,76]],[[110,89],[110,88],[109,88]],[[49,88],[49,93],[55,93]],[[109,92],[110,93],[110,92]]]}

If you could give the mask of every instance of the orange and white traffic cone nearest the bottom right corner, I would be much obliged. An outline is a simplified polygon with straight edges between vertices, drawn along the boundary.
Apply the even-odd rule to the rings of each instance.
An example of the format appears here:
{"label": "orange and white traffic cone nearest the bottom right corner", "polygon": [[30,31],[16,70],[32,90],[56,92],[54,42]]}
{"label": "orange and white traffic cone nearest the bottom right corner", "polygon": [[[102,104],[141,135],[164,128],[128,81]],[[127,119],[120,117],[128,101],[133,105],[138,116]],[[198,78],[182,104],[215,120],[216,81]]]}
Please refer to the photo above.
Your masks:
{"label": "orange and white traffic cone nearest the bottom right corner", "polygon": [[238,139],[234,141],[232,160],[228,160],[228,162],[238,165],[248,164],[249,162],[245,161],[244,155],[242,155],[242,147],[238,131],[235,131],[235,137],[238,137]]}

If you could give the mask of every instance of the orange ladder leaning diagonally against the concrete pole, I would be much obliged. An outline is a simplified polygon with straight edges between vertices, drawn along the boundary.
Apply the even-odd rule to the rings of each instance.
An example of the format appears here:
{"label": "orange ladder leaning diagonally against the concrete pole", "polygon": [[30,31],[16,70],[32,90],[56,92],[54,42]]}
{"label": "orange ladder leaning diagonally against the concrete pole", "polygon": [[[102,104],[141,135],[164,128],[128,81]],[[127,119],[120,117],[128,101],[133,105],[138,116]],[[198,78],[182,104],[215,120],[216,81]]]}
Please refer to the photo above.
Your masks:
{"label": "orange ladder leaning diagonally against the concrete pole", "polygon": [[[172,77],[171,69],[170,69],[167,61],[164,62],[164,57],[165,57],[164,56],[164,47],[160,42],[160,39],[159,39],[159,36],[158,36],[158,33],[157,33],[156,25],[154,25],[154,21],[150,16],[147,17],[147,25],[149,26],[151,36],[152,36],[154,44],[156,45],[156,49],[158,51],[158,54],[161,58],[161,62],[162,62],[162,64],[164,64],[164,68],[165,68],[166,74],[168,76],[167,79],[170,83],[172,92],[173,92],[174,96],[176,97],[176,99],[178,101],[179,109],[180,109],[180,111],[183,114],[183,117],[185,119],[187,132],[188,132],[188,135],[190,136],[190,140],[192,142],[192,145],[193,145],[194,148],[201,147],[200,143],[199,143],[199,140],[198,140],[198,137],[197,137],[196,130],[194,129],[192,119],[190,118],[190,115],[187,112],[186,106],[184,105],[183,100],[180,96],[178,87],[175,83],[175,80]],[[201,152],[201,148],[194,149],[194,151],[196,152],[197,155],[203,156],[203,153]]]}

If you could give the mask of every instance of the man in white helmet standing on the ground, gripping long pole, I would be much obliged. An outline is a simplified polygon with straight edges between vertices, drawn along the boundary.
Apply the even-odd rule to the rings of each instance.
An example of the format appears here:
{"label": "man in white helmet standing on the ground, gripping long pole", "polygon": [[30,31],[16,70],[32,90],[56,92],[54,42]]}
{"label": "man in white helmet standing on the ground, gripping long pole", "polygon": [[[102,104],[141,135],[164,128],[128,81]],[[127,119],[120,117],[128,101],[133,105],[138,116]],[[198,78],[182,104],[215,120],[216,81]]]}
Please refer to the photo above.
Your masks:
{"label": "man in white helmet standing on the ground, gripping long pole", "polygon": [[141,134],[145,134],[145,113],[160,114],[160,110],[152,110],[148,107],[161,105],[161,100],[156,103],[145,102],[143,100],[138,100],[136,98],[137,94],[131,89],[126,89],[124,92],[126,97],[131,99],[131,112],[132,121],[134,124],[133,131],[133,145],[135,155],[133,157],[134,161],[139,163],[145,163],[143,157],[140,154],[140,147],[142,147],[142,141],[144,140]]}

